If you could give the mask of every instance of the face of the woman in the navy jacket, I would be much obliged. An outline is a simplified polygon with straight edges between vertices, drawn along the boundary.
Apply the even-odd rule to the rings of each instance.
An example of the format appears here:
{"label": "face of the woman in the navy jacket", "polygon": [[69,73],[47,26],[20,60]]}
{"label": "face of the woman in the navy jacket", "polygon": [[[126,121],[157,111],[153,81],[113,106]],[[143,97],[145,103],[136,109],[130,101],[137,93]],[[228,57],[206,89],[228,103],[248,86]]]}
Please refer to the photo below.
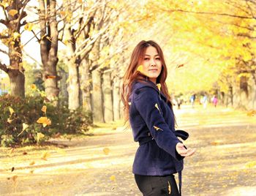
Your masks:
{"label": "face of the woman in the navy jacket", "polygon": [[162,62],[156,48],[151,45],[146,48],[141,65],[143,73],[148,76],[149,80],[156,83],[162,70]]}

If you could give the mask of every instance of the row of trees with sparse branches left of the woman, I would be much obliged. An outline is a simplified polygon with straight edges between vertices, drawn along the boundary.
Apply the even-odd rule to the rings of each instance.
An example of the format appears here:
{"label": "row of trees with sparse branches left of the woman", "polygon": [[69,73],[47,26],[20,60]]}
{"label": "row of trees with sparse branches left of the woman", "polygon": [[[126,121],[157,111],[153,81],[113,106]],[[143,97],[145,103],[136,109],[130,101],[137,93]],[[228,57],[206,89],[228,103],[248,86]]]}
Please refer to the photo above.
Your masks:
{"label": "row of trees with sparse branches left of the woman", "polygon": [[[10,94],[25,97],[23,69],[24,31],[31,31],[40,45],[42,80],[48,101],[57,105],[59,97],[57,64],[59,58],[68,68],[68,107],[83,107],[93,111],[94,121],[113,121],[120,118],[120,81],[125,64],[127,37],[132,33],[132,18],[143,20],[143,15],[129,15],[132,2],[4,0],[1,1],[4,30],[0,39],[1,53],[10,59],[0,69],[10,78]],[[33,18],[33,20],[32,20]],[[124,20],[125,18],[125,20]],[[34,39],[31,39],[31,42]],[[64,43],[66,50],[59,51]],[[31,50],[33,50],[31,48]]]}

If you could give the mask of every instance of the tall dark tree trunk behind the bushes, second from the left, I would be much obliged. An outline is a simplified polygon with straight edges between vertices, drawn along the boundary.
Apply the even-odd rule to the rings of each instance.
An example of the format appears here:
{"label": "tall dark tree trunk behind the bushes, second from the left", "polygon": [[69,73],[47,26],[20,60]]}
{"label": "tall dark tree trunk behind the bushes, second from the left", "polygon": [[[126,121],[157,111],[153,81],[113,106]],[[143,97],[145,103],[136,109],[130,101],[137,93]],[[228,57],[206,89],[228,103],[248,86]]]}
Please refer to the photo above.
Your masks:
{"label": "tall dark tree trunk behind the bushes, second from the left", "polygon": [[58,23],[56,20],[56,0],[39,0],[40,52],[43,65],[46,97],[57,105],[59,88],[56,66],[58,63]]}

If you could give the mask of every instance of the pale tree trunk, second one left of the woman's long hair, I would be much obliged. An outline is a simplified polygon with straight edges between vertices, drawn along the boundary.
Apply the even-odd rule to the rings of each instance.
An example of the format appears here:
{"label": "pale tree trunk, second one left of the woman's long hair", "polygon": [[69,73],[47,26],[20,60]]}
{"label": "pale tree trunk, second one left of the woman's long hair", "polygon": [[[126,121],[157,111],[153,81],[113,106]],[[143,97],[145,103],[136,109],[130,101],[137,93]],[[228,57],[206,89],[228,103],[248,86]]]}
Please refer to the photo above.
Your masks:
{"label": "pale tree trunk, second one left of the woman's long hair", "polygon": [[113,96],[111,89],[111,73],[110,71],[103,73],[102,91],[104,96],[104,117],[105,121],[113,121]]}

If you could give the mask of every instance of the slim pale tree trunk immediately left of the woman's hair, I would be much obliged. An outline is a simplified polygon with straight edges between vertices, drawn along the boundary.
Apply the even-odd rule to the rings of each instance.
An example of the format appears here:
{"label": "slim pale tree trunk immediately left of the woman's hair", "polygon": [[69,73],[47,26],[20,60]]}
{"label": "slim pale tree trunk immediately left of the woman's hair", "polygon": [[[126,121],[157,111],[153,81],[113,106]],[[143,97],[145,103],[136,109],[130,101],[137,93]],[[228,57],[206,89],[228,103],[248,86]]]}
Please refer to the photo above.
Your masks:
{"label": "slim pale tree trunk immediately left of the woman's hair", "polygon": [[120,80],[116,77],[113,80],[113,114],[114,121],[118,121],[120,116]]}

